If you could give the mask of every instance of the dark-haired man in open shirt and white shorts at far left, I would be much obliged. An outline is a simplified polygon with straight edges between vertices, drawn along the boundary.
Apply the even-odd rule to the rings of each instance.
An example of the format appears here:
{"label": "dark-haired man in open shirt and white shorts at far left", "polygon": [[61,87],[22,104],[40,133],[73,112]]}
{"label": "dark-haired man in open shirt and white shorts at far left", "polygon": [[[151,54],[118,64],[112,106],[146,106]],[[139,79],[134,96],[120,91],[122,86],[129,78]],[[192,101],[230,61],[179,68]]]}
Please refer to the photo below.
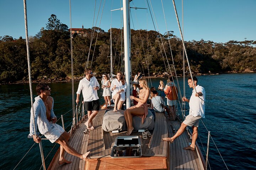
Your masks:
{"label": "dark-haired man in open shirt and white shorts at far left", "polygon": [[[36,143],[41,141],[38,136],[37,126],[39,132],[44,135],[50,142],[60,144],[60,158],[59,164],[69,164],[70,161],[64,158],[65,151],[81,159],[86,159],[90,152],[80,154],[68,144],[69,134],[61,126],[55,124],[57,117],[53,112],[53,98],[50,97],[50,87],[46,83],[39,83],[36,87],[38,96],[35,97],[33,109],[31,108],[30,116],[30,134],[28,138],[33,138]],[[33,113],[34,111],[34,113]],[[33,125],[34,119],[34,125]],[[34,127],[35,126],[35,127]],[[35,136],[36,132],[36,136]]]}

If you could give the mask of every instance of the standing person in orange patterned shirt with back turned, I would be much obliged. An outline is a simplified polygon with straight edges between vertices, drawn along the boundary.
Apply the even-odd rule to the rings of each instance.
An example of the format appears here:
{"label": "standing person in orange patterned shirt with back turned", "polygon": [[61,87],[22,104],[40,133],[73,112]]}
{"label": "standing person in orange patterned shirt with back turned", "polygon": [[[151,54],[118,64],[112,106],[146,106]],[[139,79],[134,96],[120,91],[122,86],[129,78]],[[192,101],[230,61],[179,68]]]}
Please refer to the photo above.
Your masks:
{"label": "standing person in orange patterned shirt with back turned", "polygon": [[172,115],[172,120],[175,120],[175,115],[176,115],[176,100],[178,98],[178,93],[177,93],[177,85],[174,84],[173,80],[175,78],[174,77],[169,77],[169,79],[167,79],[167,84],[165,86],[164,92],[165,92],[165,97],[167,98],[167,105],[170,108],[170,112]]}

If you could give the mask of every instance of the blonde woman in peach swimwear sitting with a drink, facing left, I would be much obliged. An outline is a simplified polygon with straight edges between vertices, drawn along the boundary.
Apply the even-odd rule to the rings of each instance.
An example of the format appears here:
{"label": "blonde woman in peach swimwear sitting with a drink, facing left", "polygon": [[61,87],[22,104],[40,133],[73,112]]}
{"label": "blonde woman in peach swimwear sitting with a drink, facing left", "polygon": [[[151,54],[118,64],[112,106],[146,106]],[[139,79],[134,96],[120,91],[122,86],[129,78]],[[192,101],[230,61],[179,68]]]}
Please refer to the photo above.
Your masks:
{"label": "blonde woman in peach swimwear sitting with a drink, facing left", "polygon": [[148,98],[150,94],[150,89],[148,87],[148,82],[146,79],[139,79],[139,85],[141,88],[139,98],[130,96],[131,100],[138,101],[138,104],[126,109],[124,111],[124,117],[126,119],[126,124],[127,124],[127,134],[130,135],[133,131],[133,126],[132,126],[132,121],[133,121],[133,116],[139,116],[142,118],[142,124],[144,123],[144,120],[146,118],[146,115],[148,115]]}

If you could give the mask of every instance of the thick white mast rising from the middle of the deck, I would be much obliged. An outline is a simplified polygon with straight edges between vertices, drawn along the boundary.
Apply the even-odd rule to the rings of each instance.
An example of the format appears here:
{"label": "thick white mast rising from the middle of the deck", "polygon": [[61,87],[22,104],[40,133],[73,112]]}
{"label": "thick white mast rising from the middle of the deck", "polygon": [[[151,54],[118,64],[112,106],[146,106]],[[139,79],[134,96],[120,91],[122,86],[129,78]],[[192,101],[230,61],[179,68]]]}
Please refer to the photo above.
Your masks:
{"label": "thick white mast rising from the middle of the deck", "polygon": [[129,1],[123,0],[123,19],[124,19],[124,68],[127,83],[126,88],[126,108],[130,107],[130,10]]}

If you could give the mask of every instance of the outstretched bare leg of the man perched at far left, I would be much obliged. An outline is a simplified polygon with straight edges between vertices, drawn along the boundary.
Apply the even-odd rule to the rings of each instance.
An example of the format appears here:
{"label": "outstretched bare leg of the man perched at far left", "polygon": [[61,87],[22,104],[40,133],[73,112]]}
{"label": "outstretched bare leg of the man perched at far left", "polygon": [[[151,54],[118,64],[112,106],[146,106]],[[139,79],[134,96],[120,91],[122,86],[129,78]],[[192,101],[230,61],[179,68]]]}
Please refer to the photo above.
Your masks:
{"label": "outstretched bare leg of the man perched at far left", "polygon": [[[68,141],[65,139],[65,137],[63,135],[60,135],[60,137],[57,139],[57,141],[55,141],[56,143],[59,143],[60,146],[63,147],[63,149],[68,152],[71,155],[74,155],[78,158],[81,158],[83,160],[85,160],[87,158],[87,156],[89,155],[89,152],[86,152],[85,154],[80,154],[78,152],[76,152],[76,150],[74,148],[72,148],[71,146],[69,146]],[[63,155],[63,151],[61,153],[61,155]]]}

